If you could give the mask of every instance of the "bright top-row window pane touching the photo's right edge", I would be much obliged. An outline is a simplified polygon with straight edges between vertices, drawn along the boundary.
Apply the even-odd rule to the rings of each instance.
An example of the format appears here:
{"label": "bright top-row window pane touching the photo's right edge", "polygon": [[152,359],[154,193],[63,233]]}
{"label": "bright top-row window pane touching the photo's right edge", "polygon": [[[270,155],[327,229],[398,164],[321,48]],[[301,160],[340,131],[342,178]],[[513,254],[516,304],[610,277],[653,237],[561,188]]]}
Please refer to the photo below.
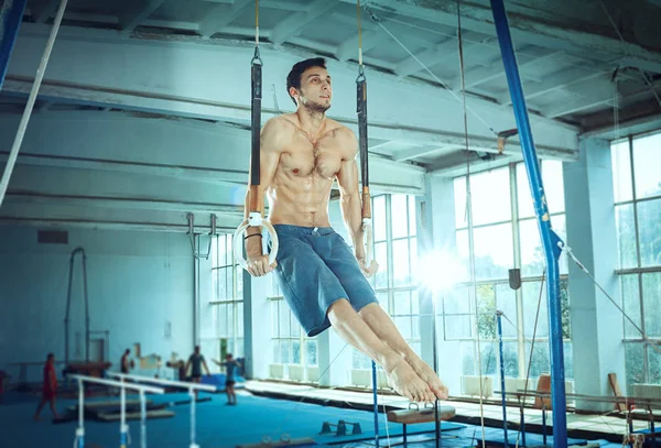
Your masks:
{"label": "bright top-row window pane touching the photo's right edge", "polygon": [[661,133],[633,139],[633,178],[636,197],[661,195]]}

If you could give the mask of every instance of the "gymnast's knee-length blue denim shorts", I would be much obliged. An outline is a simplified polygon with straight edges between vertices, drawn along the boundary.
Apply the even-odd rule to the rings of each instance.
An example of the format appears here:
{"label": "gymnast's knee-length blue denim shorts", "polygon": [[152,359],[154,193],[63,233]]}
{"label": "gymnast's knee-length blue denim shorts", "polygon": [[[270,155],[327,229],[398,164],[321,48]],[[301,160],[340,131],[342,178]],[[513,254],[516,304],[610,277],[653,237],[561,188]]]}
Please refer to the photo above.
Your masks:
{"label": "gymnast's knee-length blue denim shorts", "polygon": [[354,252],[332,227],[273,226],[280,248],[275,276],[308,337],[328,327],[328,308],[346,298],[356,312],[378,303]]}

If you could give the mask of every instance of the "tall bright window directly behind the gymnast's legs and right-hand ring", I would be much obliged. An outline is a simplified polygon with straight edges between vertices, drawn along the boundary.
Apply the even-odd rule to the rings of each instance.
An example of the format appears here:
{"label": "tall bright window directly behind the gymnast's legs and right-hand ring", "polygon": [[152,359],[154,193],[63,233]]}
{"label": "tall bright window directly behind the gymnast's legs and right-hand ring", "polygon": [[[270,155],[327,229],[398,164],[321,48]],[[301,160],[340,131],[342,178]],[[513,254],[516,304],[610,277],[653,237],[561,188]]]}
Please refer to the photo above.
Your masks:
{"label": "tall bright window directly behind the gymnast's legs and right-hand ring", "polygon": [[[413,273],[418,263],[415,197],[382,195],[372,199],[375,260],[371,278],[381,307],[390,314],[404,339],[420,353],[419,299]],[[354,350],[354,369],[370,369],[371,360]]]}

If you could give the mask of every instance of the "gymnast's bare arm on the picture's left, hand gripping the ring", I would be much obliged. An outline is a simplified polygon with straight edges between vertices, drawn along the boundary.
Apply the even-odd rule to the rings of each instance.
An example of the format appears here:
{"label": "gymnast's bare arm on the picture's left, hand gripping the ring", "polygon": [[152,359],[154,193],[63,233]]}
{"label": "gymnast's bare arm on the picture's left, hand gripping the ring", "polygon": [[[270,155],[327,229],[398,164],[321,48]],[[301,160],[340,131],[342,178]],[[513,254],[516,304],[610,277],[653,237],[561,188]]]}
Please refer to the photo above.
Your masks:
{"label": "gymnast's bare arm on the picture's left, hand gripping the ring", "polygon": [[[259,171],[259,192],[260,197],[264,198],[264,192],[271,186],[275,170],[280,163],[280,154],[282,152],[282,141],[284,133],[284,125],[282,118],[274,117],[267,121],[260,138],[260,171]],[[252,164],[250,164],[252,166]],[[263,206],[263,204],[260,204]],[[250,214],[250,185],[248,192],[246,192],[246,212],[245,217],[248,218]],[[260,233],[261,229],[249,227],[246,229],[246,254],[248,255],[248,272],[253,276],[266,275],[275,265],[269,265],[269,256],[262,254],[262,241],[260,237],[251,237],[256,233]]]}

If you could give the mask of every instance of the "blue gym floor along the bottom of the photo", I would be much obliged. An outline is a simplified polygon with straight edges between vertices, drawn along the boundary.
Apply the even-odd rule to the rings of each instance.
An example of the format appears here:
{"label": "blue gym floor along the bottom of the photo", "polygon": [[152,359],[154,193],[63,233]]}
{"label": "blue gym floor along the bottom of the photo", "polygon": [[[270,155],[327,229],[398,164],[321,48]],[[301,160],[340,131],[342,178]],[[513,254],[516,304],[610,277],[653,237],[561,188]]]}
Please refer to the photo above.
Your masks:
{"label": "blue gym floor along the bottom of the photo", "polygon": [[[229,448],[259,444],[263,440],[277,441],[281,437],[290,437],[293,440],[312,438],[313,444],[306,446],[338,446],[338,447],[368,447],[373,446],[373,414],[369,411],[359,411],[348,408],[348,406],[364,407],[371,400],[370,394],[354,393],[346,391],[302,391],[305,387],[288,386],[271,383],[249,383],[248,387],[254,393],[240,391],[237,406],[227,406],[224,394],[201,394],[201,397],[210,397],[197,404],[197,435],[196,441],[203,448]],[[288,392],[289,390],[289,392]],[[262,396],[267,393],[289,394],[286,400]],[[259,395],[258,395],[259,394]],[[305,395],[307,401],[323,402],[333,400],[337,403],[344,401],[345,407],[335,407],[322,404],[303,403],[301,395]],[[332,398],[328,398],[333,396]],[[133,397],[131,397],[133,398]],[[186,394],[166,394],[150,395],[149,400],[153,403],[173,403],[186,401]],[[383,398],[383,400],[382,400]],[[86,400],[108,401],[113,397],[95,397]],[[382,403],[391,406],[402,406],[404,403],[397,397],[380,397]],[[0,422],[2,422],[2,446],[7,447],[67,447],[72,446],[75,438],[77,424],[75,422],[54,425],[51,423],[50,411],[44,409],[42,420],[33,422],[31,416],[36,406],[37,397],[30,394],[11,392],[4,395],[3,403],[0,404]],[[67,406],[75,405],[75,400],[59,400],[57,407],[64,411]],[[443,438],[441,445],[446,447],[475,447],[481,445],[483,431],[479,425],[464,422],[475,422],[477,405],[466,403],[448,403],[457,408],[457,418],[453,422],[444,422],[442,425]],[[191,442],[191,417],[189,405],[172,405],[169,409],[174,412],[171,418],[148,419],[147,422],[147,444],[149,447],[169,448],[187,447]],[[490,419],[492,413],[500,412],[495,406],[485,407],[485,417]],[[518,412],[514,408],[508,408],[511,417],[518,418]],[[534,416],[530,415],[530,418]],[[576,425],[582,419],[589,422],[595,416],[579,416],[582,418],[570,418],[570,427]],[[600,417],[602,422],[606,422]],[[613,418],[613,417],[611,417]],[[330,426],[330,434],[321,435],[324,423],[336,425],[338,420],[358,423],[361,434],[351,435],[354,425],[347,426],[348,435],[338,437],[335,435],[336,427]],[[510,419],[510,418],[508,418]],[[477,420],[476,423],[479,423]],[[534,420],[531,419],[531,423]],[[614,430],[625,428],[625,420],[617,419],[617,425],[608,424]],[[644,423],[638,423],[638,426],[644,426]],[[132,446],[140,446],[140,422],[129,422]],[[86,447],[109,448],[119,445],[119,424],[99,423],[94,420],[85,422],[85,441]],[[380,445],[388,446],[402,441],[402,426],[399,424],[387,424],[384,414],[379,414],[379,434]],[[598,442],[600,447],[615,448],[621,446],[616,442],[615,434],[611,437],[596,438],[592,442]],[[416,447],[433,447],[434,425],[418,424],[409,426],[409,442],[415,442]],[[606,434],[604,434],[607,436]],[[510,445],[517,441],[518,433],[509,431]],[[487,446],[501,446],[503,441],[503,430],[501,427],[486,428],[485,439]],[[527,434],[527,446],[542,445],[542,437],[537,434]],[[621,439],[621,436],[619,436]],[[607,441],[609,439],[610,441]],[[425,441],[426,440],[426,441]],[[572,439],[571,445],[584,445],[588,440]],[[7,445],[4,445],[7,442]],[[519,445],[521,441],[519,440]],[[549,438],[552,444],[552,438]],[[592,445],[592,444],[590,444]]]}

